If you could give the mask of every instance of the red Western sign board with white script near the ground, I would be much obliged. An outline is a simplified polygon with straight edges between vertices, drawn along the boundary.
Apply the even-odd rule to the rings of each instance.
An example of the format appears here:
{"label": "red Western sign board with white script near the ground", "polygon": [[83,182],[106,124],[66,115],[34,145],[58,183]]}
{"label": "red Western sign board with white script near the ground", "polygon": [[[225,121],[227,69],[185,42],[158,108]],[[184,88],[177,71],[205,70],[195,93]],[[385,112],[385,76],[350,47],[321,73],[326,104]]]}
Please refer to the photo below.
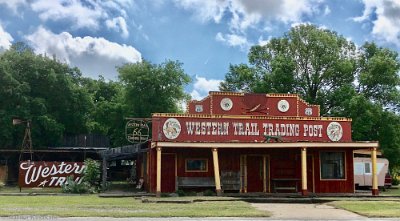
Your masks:
{"label": "red Western sign board with white script near the ground", "polygon": [[69,176],[80,183],[84,169],[83,162],[23,161],[19,164],[19,186],[60,187]]}

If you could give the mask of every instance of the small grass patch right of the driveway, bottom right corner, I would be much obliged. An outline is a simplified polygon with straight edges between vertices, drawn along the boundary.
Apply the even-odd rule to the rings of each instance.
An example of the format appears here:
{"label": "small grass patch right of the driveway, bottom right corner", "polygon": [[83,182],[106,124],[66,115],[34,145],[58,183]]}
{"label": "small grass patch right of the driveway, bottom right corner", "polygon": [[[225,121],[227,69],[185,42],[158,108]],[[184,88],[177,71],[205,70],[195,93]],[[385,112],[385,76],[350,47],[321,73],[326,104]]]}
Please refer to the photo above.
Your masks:
{"label": "small grass patch right of the driveway, bottom right corner", "polygon": [[399,201],[335,201],[331,204],[368,217],[400,217]]}

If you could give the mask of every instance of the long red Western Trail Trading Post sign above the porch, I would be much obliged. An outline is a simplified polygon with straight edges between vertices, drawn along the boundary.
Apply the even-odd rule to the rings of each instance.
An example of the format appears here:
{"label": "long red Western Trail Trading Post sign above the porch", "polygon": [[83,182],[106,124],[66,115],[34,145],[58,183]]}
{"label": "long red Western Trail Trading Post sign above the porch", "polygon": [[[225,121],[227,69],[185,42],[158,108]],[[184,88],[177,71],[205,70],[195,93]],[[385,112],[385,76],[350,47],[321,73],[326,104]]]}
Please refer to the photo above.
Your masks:
{"label": "long red Western Trail Trading Post sign above the porch", "polygon": [[164,140],[171,141],[261,142],[266,136],[281,137],[283,141],[351,141],[351,122],[167,118],[162,132]]}

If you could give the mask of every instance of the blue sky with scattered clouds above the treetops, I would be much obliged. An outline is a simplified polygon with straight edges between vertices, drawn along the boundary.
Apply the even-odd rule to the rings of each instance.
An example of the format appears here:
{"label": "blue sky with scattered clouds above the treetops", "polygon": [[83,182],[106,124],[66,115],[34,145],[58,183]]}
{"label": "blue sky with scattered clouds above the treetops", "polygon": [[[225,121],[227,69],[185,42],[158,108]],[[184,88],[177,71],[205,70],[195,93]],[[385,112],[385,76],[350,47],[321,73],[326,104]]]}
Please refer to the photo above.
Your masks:
{"label": "blue sky with scattered clouds above the treetops", "polygon": [[0,0],[0,52],[24,41],[111,80],[127,62],[179,60],[201,99],[252,45],[302,23],[400,52],[400,0]]}

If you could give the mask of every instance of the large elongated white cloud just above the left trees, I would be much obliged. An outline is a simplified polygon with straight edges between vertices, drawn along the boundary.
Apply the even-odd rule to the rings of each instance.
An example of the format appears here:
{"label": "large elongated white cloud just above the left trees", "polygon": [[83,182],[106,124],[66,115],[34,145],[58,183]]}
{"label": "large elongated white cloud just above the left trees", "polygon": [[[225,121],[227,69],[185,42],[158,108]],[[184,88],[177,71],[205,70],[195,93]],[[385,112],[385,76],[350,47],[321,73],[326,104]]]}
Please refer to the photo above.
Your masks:
{"label": "large elongated white cloud just above the left trees", "polygon": [[36,53],[55,55],[61,61],[77,66],[85,76],[103,75],[115,79],[116,66],[141,61],[141,54],[128,45],[104,38],[73,37],[68,32],[55,34],[43,27],[25,37]]}

